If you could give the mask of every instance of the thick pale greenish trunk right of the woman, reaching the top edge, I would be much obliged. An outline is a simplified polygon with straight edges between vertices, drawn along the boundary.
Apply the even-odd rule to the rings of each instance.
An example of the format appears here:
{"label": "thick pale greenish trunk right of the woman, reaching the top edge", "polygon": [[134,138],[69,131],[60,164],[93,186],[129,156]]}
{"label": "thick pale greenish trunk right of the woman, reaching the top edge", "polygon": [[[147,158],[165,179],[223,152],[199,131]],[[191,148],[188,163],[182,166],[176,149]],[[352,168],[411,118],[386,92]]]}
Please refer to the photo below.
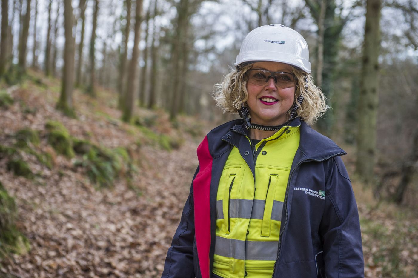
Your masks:
{"label": "thick pale greenish trunk right of the woman, reaching the top edge", "polygon": [[373,179],[376,153],[377,87],[379,84],[381,0],[368,0],[358,106],[356,171],[366,183]]}

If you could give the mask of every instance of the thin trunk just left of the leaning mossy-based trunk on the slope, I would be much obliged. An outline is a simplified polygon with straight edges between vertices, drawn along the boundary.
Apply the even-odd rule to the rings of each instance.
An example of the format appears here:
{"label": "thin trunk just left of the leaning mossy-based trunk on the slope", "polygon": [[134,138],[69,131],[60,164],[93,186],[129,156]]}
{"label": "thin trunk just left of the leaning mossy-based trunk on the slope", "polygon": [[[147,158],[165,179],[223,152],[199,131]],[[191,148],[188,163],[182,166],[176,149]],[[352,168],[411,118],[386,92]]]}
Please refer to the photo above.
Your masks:
{"label": "thin trunk just left of the leaning mossy-based trunk on the slope", "polygon": [[119,91],[119,104],[118,107],[123,110],[125,105],[125,72],[126,72],[126,57],[127,57],[127,48],[129,42],[129,32],[130,32],[130,13],[131,13],[131,0],[125,0],[126,3],[126,25],[125,30],[123,30],[123,41],[121,43],[120,54],[120,68],[119,68],[119,78],[117,89]]}

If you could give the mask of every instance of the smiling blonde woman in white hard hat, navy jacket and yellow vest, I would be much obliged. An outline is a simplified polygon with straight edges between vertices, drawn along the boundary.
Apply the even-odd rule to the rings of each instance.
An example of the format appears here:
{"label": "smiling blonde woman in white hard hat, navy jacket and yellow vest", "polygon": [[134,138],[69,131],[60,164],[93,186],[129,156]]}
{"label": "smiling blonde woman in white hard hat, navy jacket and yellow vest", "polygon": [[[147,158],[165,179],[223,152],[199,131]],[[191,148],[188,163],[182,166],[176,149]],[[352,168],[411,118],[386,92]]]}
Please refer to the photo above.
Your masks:
{"label": "smiling blonde woman in white hard hat, navy jacket and yellow vest", "polygon": [[283,25],[244,39],[214,96],[242,119],[199,145],[162,277],[364,277],[346,153],[309,127],[328,107],[308,59]]}

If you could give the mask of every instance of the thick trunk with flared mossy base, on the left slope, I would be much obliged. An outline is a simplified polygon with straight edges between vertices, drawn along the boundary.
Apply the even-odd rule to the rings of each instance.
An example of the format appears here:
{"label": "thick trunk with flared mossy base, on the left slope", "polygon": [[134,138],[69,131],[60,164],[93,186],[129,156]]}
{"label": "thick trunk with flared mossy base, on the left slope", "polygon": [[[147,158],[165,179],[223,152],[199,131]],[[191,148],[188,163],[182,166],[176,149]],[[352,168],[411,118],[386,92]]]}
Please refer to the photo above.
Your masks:
{"label": "thick trunk with flared mossy base, on the left slope", "polygon": [[62,71],[61,95],[57,109],[66,115],[74,116],[73,86],[74,86],[74,37],[73,37],[73,8],[71,0],[64,0],[64,66]]}

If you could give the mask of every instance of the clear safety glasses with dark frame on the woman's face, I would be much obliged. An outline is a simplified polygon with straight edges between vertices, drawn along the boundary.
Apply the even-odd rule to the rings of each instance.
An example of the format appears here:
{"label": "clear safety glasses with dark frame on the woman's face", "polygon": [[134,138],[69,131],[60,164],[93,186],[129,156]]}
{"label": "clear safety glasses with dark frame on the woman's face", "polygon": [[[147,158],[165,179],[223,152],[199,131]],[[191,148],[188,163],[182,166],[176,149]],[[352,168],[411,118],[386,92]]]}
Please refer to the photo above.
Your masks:
{"label": "clear safety glasses with dark frame on the woman's face", "polygon": [[267,84],[270,78],[274,79],[275,84],[280,89],[295,86],[295,75],[284,71],[268,71],[265,69],[250,69],[247,71],[247,82],[258,86]]}

